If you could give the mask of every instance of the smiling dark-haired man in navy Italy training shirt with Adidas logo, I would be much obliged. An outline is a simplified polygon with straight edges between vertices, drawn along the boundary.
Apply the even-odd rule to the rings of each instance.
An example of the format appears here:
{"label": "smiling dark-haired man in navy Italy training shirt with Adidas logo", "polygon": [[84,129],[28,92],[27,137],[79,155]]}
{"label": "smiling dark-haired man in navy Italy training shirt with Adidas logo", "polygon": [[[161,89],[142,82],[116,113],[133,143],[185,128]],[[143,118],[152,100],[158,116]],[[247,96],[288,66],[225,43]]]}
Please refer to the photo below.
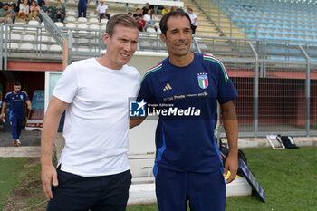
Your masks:
{"label": "smiling dark-haired man in navy Italy training shirt with Adidas logo", "polygon": [[[153,168],[159,210],[186,211],[189,201],[191,211],[224,211],[226,182],[235,179],[238,168],[238,123],[232,102],[237,93],[222,62],[190,52],[192,31],[186,13],[170,12],[159,26],[169,57],[145,73],[138,100],[174,104],[173,110],[199,110],[198,116],[182,111],[159,116]],[[217,101],[230,148],[225,168],[214,135]],[[130,128],[142,120],[131,118]],[[228,170],[231,175],[225,182]]]}

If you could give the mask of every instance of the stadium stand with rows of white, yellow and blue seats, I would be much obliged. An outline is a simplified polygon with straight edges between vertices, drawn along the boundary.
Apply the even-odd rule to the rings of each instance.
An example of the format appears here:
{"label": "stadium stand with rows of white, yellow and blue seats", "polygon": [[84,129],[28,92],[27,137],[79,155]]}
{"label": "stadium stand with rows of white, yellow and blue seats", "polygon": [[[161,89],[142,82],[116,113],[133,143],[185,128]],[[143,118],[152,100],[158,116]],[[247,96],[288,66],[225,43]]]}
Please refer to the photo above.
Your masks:
{"label": "stadium stand with rows of white, yellow and blue seats", "polygon": [[[133,0],[132,2],[142,0]],[[131,2],[131,1],[130,1]],[[163,1],[164,2],[164,1]],[[317,16],[313,12],[316,5],[298,3],[299,1],[274,1],[274,0],[185,0],[184,7],[191,7],[198,17],[197,34],[192,44],[192,50],[201,53],[216,53],[225,57],[253,58],[254,54],[245,43],[258,41],[258,52],[264,54],[267,59],[298,59],[297,44],[313,43],[317,40]],[[142,4],[126,4],[126,0],[119,2],[110,0],[105,2],[109,7],[109,13],[126,13],[127,10],[134,13],[136,8],[142,8]],[[64,2],[62,2],[62,5]],[[106,29],[108,19],[99,22],[98,14],[94,14],[98,2],[91,1],[88,7],[87,18],[77,18],[77,5],[75,1],[67,1],[66,18],[64,23],[55,24],[62,29],[64,34],[72,31],[72,46],[78,48],[82,43],[78,40],[87,39],[85,47],[91,48],[86,57],[96,56],[105,50],[105,45],[98,40]],[[306,4],[306,5],[305,5]],[[55,6],[56,1],[50,1]],[[274,9],[272,9],[274,8]],[[154,26],[159,27],[161,15],[155,15]],[[166,52],[164,43],[159,39],[159,33],[154,26],[148,28],[148,32],[141,33],[139,37],[139,51]],[[5,37],[5,26],[3,26]],[[28,43],[25,35],[33,35],[33,43],[40,42],[47,45],[42,53],[52,53],[50,45],[57,44],[44,29],[44,24],[31,20],[28,23],[16,23],[8,26],[8,43]],[[87,36],[87,34],[92,34]],[[21,37],[19,37],[21,36]],[[30,39],[29,36],[25,38]],[[89,43],[89,44],[88,44]],[[91,44],[92,43],[92,44]],[[288,43],[293,43],[290,45]],[[265,49],[262,47],[265,44]],[[8,45],[10,48],[12,45]],[[45,50],[46,49],[46,50]],[[55,49],[54,47],[52,49]],[[306,48],[312,57],[316,57],[314,46]],[[16,53],[12,51],[12,53]],[[9,54],[13,56],[14,54]],[[31,56],[31,53],[30,53]],[[61,56],[61,55],[59,55]],[[36,55],[36,58],[38,56]],[[55,57],[53,57],[55,58]],[[75,59],[76,57],[73,57]],[[312,58],[314,60],[314,58]]]}

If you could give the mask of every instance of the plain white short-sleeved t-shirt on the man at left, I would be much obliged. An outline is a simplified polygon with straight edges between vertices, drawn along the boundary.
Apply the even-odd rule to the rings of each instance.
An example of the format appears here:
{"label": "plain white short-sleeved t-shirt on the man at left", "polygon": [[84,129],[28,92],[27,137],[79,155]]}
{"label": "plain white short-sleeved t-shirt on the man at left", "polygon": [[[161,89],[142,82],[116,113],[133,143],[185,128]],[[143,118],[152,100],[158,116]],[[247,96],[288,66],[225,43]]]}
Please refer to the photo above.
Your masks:
{"label": "plain white short-sleeved t-shirt on the man at left", "polygon": [[82,177],[118,174],[130,169],[129,101],[139,90],[137,69],[111,70],[96,58],[72,62],[62,73],[53,96],[66,109],[65,147],[58,165]]}

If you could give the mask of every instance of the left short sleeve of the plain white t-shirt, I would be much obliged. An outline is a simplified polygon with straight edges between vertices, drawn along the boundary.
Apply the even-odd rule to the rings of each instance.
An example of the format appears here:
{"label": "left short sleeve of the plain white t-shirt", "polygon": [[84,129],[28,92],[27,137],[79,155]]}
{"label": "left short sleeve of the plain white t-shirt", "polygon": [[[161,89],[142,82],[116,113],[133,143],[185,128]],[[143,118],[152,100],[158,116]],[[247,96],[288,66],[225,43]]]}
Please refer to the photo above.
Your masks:
{"label": "left short sleeve of the plain white t-shirt", "polygon": [[53,96],[61,101],[71,103],[78,90],[78,77],[74,64],[68,66],[58,80]]}

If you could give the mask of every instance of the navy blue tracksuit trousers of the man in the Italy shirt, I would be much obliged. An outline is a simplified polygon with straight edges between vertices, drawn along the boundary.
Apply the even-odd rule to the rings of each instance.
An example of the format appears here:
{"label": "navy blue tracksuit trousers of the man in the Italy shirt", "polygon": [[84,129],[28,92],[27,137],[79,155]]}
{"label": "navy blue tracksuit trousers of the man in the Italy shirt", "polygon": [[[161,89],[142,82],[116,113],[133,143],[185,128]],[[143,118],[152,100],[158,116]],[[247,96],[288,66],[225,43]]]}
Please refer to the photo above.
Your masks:
{"label": "navy blue tracksuit trousers of the man in the Italy shirt", "polygon": [[159,211],[225,211],[226,183],[220,169],[211,173],[159,168],[155,178]]}

